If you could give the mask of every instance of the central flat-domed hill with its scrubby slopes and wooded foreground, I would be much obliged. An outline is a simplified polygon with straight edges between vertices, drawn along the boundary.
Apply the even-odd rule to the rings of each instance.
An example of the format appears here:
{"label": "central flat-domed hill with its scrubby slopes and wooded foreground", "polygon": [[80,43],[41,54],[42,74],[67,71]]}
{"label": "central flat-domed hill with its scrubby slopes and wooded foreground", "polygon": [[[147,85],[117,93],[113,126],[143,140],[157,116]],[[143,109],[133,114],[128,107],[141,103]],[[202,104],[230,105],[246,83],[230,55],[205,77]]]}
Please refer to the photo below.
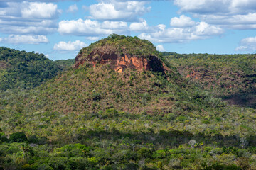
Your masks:
{"label": "central flat-domed hill with its scrubby slopes and wooded foreground", "polygon": [[110,35],[40,86],[4,91],[0,169],[255,169],[256,110],[216,98],[173,61]]}

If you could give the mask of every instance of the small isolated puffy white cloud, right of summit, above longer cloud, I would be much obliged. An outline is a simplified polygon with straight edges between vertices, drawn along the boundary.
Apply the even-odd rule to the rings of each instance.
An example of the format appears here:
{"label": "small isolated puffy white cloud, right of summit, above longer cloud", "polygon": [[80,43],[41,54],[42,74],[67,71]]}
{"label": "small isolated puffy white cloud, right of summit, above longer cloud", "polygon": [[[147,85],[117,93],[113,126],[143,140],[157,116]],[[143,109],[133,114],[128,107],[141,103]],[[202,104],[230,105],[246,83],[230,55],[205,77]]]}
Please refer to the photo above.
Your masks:
{"label": "small isolated puffy white cloud, right of summit, above longer cloud", "polygon": [[173,27],[188,27],[188,26],[195,26],[196,22],[193,21],[190,17],[188,16],[180,16],[179,18],[178,17],[174,17],[174,18],[171,18],[171,21],[170,21],[170,26],[173,26]]}

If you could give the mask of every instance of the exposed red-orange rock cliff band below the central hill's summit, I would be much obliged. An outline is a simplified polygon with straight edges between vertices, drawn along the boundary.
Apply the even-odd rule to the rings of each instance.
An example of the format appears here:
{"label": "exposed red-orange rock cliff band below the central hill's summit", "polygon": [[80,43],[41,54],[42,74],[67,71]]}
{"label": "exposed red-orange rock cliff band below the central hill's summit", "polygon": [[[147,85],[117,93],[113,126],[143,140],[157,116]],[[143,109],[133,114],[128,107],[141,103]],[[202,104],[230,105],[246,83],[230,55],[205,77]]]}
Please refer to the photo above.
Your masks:
{"label": "exposed red-orange rock cliff band below the central hill's summit", "polygon": [[93,50],[90,55],[83,56],[80,53],[75,57],[75,68],[80,64],[91,64],[96,67],[97,64],[110,64],[110,68],[116,72],[123,72],[124,69],[137,69],[139,71],[152,70],[154,72],[164,72],[168,70],[164,64],[156,56],[139,57],[129,54],[117,55],[117,52],[110,49],[97,49]]}

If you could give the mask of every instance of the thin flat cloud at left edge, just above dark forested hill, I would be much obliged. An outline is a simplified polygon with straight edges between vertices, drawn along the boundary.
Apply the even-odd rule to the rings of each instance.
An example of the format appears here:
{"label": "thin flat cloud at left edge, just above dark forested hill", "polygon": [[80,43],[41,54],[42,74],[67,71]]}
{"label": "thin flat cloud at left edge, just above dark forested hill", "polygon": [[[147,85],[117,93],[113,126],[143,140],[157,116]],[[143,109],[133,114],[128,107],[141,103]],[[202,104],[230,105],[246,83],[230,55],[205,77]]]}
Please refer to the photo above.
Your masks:
{"label": "thin flat cloud at left edge, just above dark forested hill", "polygon": [[1,42],[11,44],[40,44],[48,43],[45,35],[9,35],[8,38],[1,38]]}

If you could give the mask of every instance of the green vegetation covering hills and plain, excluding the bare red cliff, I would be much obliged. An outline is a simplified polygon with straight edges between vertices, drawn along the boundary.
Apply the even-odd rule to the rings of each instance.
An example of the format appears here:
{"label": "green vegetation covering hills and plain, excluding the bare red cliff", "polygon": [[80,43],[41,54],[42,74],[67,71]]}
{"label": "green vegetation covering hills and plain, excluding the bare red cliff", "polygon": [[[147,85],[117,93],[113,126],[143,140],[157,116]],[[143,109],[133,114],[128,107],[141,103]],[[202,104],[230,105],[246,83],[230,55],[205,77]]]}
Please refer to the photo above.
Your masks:
{"label": "green vegetation covering hills and plain, excluding the bare red cliff", "polygon": [[37,74],[30,84],[12,77],[15,85],[2,89],[0,169],[256,169],[256,110],[252,102],[223,101],[253,96],[254,55],[161,53],[119,35],[82,51],[102,42],[118,50],[120,41],[124,51],[141,44],[169,71],[117,73],[34,52],[1,55],[0,72],[27,77],[17,62],[40,61],[41,73],[53,76]]}

